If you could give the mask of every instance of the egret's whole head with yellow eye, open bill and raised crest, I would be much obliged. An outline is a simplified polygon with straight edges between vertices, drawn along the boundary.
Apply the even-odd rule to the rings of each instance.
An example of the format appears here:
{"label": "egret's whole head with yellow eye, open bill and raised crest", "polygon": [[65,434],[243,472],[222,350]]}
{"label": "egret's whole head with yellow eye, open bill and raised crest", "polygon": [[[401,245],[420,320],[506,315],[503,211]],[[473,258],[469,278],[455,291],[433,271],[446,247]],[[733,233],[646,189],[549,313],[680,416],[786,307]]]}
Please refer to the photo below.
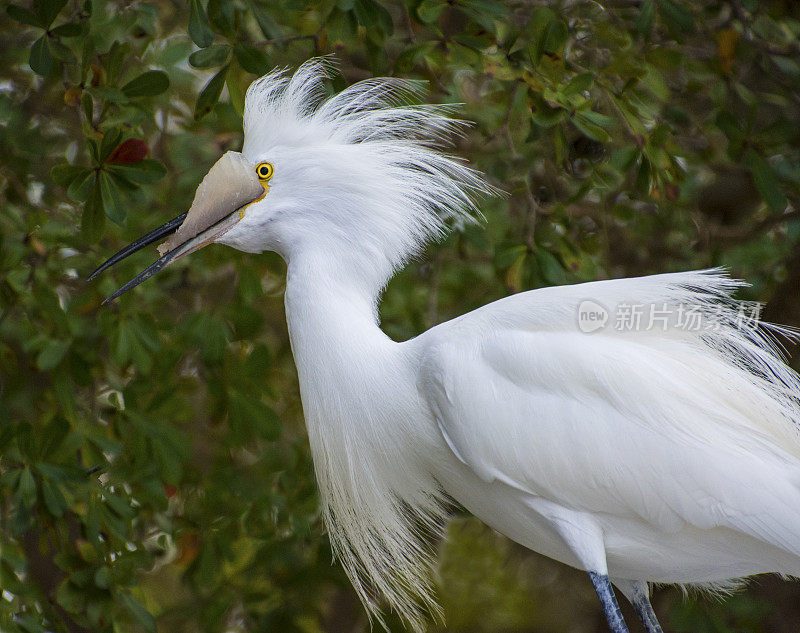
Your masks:
{"label": "egret's whole head with yellow eye, open bill and raised crest", "polygon": [[395,78],[329,96],[329,68],[312,59],[294,75],[276,70],[253,82],[242,152],[214,164],[186,214],[92,274],[171,234],[161,258],[109,300],[212,242],[289,262],[314,253],[383,283],[450,221],[474,218],[475,195],[491,188],[437,149],[463,125],[451,108],[403,105],[419,86]]}

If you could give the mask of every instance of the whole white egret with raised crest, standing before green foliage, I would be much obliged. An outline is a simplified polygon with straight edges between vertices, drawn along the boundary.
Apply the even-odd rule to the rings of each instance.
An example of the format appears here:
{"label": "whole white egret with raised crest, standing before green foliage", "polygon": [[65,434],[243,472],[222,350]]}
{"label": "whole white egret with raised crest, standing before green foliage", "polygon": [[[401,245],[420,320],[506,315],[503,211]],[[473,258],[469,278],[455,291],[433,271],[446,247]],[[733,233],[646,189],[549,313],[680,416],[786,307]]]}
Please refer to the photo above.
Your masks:
{"label": "whole white egret with raised crest, standing before green foliage", "polygon": [[[647,631],[649,583],[800,576],[800,380],[719,270],[523,292],[395,342],[392,274],[488,192],[435,147],[460,123],[370,79],[326,98],[326,63],[253,83],[244,147],[116,297],[210,242],[287,262],[286,314],[334,550],[368,609],[422,630],[431,534],[452,502],[612,583]],[[180,228],[178,228],[180,226]],[[177,229],[177,231],[176,231]],[[98,272],[99,272],[98,270]]]}

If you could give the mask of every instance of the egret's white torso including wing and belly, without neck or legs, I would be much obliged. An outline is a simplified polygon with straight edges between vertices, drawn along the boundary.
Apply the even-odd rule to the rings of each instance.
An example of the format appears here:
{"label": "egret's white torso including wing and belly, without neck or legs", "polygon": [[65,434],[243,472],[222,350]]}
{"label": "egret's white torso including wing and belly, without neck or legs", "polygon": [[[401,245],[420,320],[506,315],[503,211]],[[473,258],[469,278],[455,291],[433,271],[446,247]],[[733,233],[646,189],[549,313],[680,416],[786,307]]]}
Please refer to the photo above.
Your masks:
{"label": "egret's white torso including wing and belly, without neck or legs", "polygon": [[[725,301],[726,289],[730,280],[713,272],[548,288],[425,333],[414,342],[425,348],[431,416],[472,473],[468,488],[475,478],[488,486],[476,502],[459,489],[463,468],[438,479],[514,540],[584,569],[604,557],[614,579],[797,575],[800,442],[785,417],[793,409],[754,385],[733,350],[726,356],[702,336],[577,328],[587,296],[701,305]],[[714,340],[765,353],[750,348],[752,332],[731,328]],[[513,506],[527,519],[509,524]],[[579,555],[572,532],[581,541],[596,532],[602,549]]]}

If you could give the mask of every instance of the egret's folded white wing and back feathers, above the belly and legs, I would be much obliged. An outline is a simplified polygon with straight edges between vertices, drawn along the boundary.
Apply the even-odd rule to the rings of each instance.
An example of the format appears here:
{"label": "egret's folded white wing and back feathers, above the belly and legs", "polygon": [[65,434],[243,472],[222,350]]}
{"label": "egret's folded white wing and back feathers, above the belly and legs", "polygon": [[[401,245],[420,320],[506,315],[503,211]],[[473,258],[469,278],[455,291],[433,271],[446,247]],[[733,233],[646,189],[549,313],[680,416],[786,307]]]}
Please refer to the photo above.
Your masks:
{"label": "egret's folded white wing and back feathers, above the belly and legs", "polygon": [[[509,297],[418,339],[423,393],[483,481],[654,535],[727,528],[796,555],[800,381],[769,330],[741,318],[738,285],[705,271]],[[586,334],[584,300],[691,310],[702,327]]]}

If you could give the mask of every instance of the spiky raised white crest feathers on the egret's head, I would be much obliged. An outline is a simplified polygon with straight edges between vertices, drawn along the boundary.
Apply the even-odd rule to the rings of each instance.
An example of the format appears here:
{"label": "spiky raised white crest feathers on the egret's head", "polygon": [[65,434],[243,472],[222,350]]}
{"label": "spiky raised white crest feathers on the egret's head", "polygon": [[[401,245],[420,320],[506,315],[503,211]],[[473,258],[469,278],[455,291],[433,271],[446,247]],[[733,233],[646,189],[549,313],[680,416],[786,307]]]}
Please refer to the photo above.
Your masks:
{"label": "spiky raised white crest feathers on the egret's head", "polygon": [[311,59],[293,75],[278,69],[253,82],[242,151],[267,160],[264,148],[299,148],[296,161],[334,163],[335,171],[315,173],[298,195],[307,196],[308,208],[335,215],[331,225],[354,236],[359,251],[385,257],[388,278],[441,237],[449,220],[474,221],[476,197],[496,190],[463,160],[438,151],[468,122],[451,118],[453,106],[407,105],[423,82],[372,78],[329,95],[331,66],[329,58]]}

